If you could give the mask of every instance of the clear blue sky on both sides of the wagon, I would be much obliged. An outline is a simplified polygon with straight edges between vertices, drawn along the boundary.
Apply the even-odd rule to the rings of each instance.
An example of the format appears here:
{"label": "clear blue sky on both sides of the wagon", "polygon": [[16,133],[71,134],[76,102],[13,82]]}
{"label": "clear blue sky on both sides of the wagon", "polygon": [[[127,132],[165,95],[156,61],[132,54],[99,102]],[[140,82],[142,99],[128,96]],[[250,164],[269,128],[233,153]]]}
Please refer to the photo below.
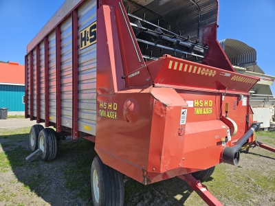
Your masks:
{"label": "clear blue sky on both sides of the wagon", "polygon": [[[0,0],[0,60],[24,64],[26,46],[64,0]],[[259,67],[275,76],[275,1],[219,1],[218,40],[254,47]],[[275,95],[275,85],[272,86]]]}

